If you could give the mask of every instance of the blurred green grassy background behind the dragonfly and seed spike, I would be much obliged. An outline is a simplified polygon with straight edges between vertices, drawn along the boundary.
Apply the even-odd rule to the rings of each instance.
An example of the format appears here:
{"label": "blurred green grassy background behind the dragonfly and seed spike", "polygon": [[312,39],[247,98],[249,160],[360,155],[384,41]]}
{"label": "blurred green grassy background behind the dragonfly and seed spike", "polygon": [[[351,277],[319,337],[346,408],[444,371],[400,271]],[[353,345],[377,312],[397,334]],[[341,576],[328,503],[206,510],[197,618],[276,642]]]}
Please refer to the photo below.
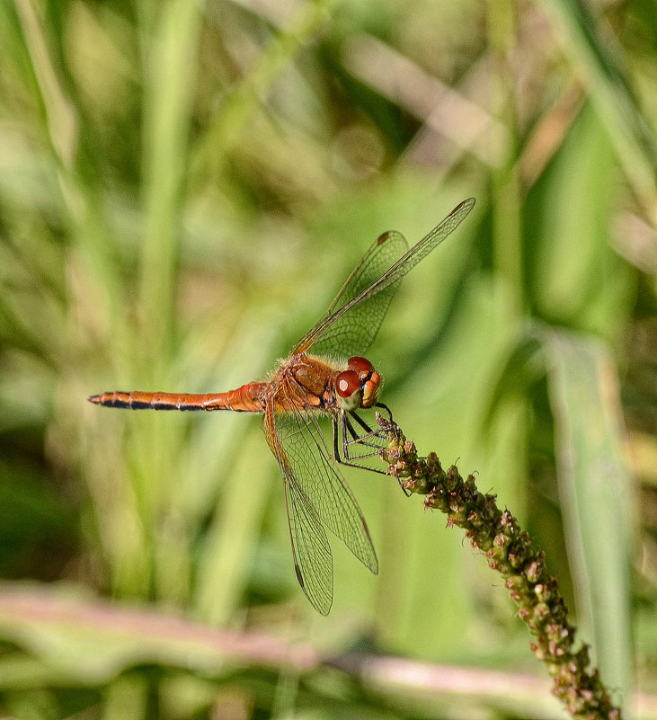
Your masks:
{"label": "blurred green grassy background behind the dragonfly and seed spike", "polygon": [[656,59],[653,0],[0,3],[0,716],[560,716],[394,480],[346,474],[381,571],[333,542],[321,618],[258,418],[85,401],[266,376],[380,233],[475,196],[368,353],[382,399],[657,717]]}

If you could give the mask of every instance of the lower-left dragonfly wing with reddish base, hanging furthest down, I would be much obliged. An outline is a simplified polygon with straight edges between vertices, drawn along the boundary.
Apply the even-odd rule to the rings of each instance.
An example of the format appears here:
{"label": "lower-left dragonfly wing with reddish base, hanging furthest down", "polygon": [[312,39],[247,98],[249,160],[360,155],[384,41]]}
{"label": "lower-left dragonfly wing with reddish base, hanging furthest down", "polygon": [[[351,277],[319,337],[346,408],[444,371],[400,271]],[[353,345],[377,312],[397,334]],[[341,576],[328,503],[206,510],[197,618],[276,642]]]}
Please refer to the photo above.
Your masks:
{"label": "lower-left dragonfly wing with reddish base, hanging furthest down", "polygon": [[292,546],[297,580],[311,605],[322,615],[328,615],[333,604],[333,555],[322,521],[297,481],[288,455],[280,443],[280,416],[269,404],[262,418],[262,427],[279,461],[285,487],[285,507],[288,511],[289,539]]}

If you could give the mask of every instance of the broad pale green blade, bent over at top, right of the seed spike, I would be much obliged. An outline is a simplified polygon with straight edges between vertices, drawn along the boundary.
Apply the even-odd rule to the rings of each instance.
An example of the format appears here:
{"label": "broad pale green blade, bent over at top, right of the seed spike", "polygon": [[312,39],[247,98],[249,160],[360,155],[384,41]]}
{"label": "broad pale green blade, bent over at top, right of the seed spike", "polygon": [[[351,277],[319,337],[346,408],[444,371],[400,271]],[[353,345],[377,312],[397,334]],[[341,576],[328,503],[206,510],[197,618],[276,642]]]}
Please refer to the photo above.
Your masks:
{"label": "broad pale green blade, bent over at top, right of the seed spike", "polygon": [[616,369],[599,340],[548,333],[555,455],[578,624],[602,680],[627,698],[632,676],[632,477],[622,450]]}

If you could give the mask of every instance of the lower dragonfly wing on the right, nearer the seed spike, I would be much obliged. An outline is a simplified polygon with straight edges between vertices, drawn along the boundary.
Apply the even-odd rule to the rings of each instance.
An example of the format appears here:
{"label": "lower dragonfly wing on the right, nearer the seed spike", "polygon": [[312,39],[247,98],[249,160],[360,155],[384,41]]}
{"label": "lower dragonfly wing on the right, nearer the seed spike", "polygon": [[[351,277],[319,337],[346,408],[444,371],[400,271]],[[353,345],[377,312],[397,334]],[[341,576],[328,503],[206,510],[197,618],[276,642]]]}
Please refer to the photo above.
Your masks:
{"label": "lower dragonfly wing on the right, nearer the seed spike", "polygon": [[367,523],[339,467],[329,460],[333,450],[326,442],[316,413],[280,414],[276,417],[276,430],[293,468],[294,481],[324,526],[341,538],[372,573],[377,573],[377,554]]}

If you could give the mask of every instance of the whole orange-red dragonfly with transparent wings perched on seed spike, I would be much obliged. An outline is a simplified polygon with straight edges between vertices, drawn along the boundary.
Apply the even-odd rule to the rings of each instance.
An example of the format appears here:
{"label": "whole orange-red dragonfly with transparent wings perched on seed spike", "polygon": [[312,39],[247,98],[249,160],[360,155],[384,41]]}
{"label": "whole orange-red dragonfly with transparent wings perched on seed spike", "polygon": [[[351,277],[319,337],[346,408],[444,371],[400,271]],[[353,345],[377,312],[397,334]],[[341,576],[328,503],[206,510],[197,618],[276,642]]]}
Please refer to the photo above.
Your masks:
{"label": "whole orange-red dragonfly with transparent wings perched on seed spike", "polygon": [[[333,555],[326,528],[362,564],[378,572],[377,553],[360,506],[340,466],[368,467],[385,446],[360,411],[387,406],[378,400],[381,375],[363,357],[377,335],[404,275],[450,235],[475,205],[459,203],[409,250],[396,231],[379,236],[347,278],[331,307],[270,378],[223,393],[104,392],[93,404],[131,410],[231,410],[262,413],[262,429],[278,461],[288,513],[295,572],[313,607],[328,615],[333,604]],[[344,359],[347,360],[344,360]],[[333,439],[322,423],[330,418]]]}

